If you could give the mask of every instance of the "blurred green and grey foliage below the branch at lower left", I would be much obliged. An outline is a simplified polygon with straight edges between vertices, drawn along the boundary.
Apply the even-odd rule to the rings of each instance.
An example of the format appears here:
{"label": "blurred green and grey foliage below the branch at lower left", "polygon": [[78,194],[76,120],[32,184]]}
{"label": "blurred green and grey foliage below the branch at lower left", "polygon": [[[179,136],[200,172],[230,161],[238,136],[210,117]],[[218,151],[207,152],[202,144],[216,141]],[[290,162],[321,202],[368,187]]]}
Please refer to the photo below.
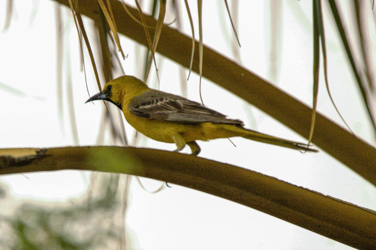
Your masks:
{"label": "blurred green and grey foliage below the branch at lower left", "polygon": [[[125,246],[127,196],[117,192],[118,176],[93,174],[88,192],[67,202],[17,201],[2,186],[1,249],[89,250]],[[127,187],[122,186],[122,190]]]}

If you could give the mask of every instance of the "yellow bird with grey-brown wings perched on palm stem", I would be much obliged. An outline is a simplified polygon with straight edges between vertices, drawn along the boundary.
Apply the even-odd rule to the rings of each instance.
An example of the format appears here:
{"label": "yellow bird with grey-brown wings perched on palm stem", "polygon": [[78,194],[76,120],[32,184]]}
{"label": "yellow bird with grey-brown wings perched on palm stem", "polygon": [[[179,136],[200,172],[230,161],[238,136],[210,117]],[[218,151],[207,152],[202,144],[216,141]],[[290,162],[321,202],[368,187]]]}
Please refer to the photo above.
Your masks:
{"label": "yellow bird with grey-brown wings perched on palm stem", "polygon": [[307,150],[307,144],[289,141],[244,128],[241,120],[227,118],[181,96],[154,90],[134,76],[120,76],[106,83],[103,91],[87,102],[107,100],[123,111],[127,122],[138,132],[156,141],[175,143],[176,151],[187,144],[192,154],[201,149],[197,140],[241,136],[254,141],[274,144],[296,150]]}

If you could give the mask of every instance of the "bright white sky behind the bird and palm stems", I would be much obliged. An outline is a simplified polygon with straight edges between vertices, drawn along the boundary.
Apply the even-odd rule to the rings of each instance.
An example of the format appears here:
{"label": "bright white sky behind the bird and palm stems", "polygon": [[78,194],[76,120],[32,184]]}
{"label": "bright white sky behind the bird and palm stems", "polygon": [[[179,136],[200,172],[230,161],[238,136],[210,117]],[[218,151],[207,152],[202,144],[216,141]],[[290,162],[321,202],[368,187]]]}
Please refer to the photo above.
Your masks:
{"label": "bright white sky behind the bird and palm stems", "polygon": [[[279,5],[277,4],[279,3]],[[133,2],[132,2],[133,3]],[[341,1],[344,3],[344,1]],[[190,1],[195,21],[196,36],[197,6]],[[229,1],[230,7],[232,6]],[[182,5],[183,7],[183,5]],[[346,6],[344,6],[346,7]],[[144,8],[146,6],[144,5]],[[281,51],[279,76],[273,77],[268,69],[270,50],[270,8],[275,15],[282,11]],[[185,9],[185,8],[184,8]],[[184,10],[183,9],[183,10]],[[240,1],[238,34],[242,47],[240,62],[248,69],[303,102],[311,103],[312,89],[312,17],[310,1],[276,1],[270,6],[266,1]],[[327,6],[324,4],[324,13]],[[37,12],[36,12],[37,11]],[[0,93],[2,131],[0,147],[57,147],[72,145],[72,133],[68,117],[68,98],[73,100],[76,115],[79,145],[96,144],[102,103],[84,104],[88,99],[85,76],[80,71],[79,49],[76,28],[70,10],[63,9],[65,28],[63,57],[64,112],[58,115],[56,89],[56,24],[54,2],[15,0],[15,11],[9,30],[0,32]],[[6,4],[0,4],[0,16],[5,16]],[[172,13],[171,9],[168,13]],[[184,12],[183,12],[184,13]],[[166,22],[175,18],[167,15]],[[0,27],[5,24],[0,19]],[[325,18],[327,48],[329,55],[329,81],[332,95],[353,131],[370,141],[370,132],[353,77],[343,57],[331,20]],[[186,14],[182,17],[183,29],[190,34]],[[86,22],[87,23],[87,22]],[[174,26],[176,24],[173,24]],[[214,5],[204,1],[204,43],[227,57],[234,58],[231,44],[233,33],[222,1]],[[89,27],[89,26],[88,26]],[[371,34],[374,38],[374,34]],[[126,74],[141,78],[140,46],[121,37],[124,52],[129,57],[123,61]],[[90,94],[98,92],[88,54],[85,51],[88,88]],[[160,89],[181,94],[179,68],[173,62],[157,57]],[[71,72],[70,72],[71,71]],[[185,70],[188,75],[188,70]],[[73,96],[68,97],[65,79],[71,75]],[[117,75],[119,76],[119,75]],[[321,76],[323,74],[321,73]],[[104,84],[104,83],[103,83]],[[199,101],[199,78],[193,73],[188,81],[187,96]],[[149,85],[156,86],[155,70]],[[12,90],[15,88],[22,93]],[[321,79],[318,110],[337,121],[335,109],[327,97]],[[246,127],[272,135],[304,141],[299,135],[284,127],[273,118],[253,108],[233,94],[203,79],[202,95],[205,105],[232,118],[240,118]],[[129,141],[133,129],[126,124]],[[174,150],[175,145],[142,139],[137,147]],[[301,154],[297,151],[233,138],[199,142],[200,157],[252,169],[281,180],[316,190],[344,201],[376,210],[376,189],[363,178],[343,166],[324,152]],[[109,145],[109,141],[105,141]],[[188,153],[185,149],[183,153]],[[79,197],[87,187],[89,174],[73,171],[26,174],[0,177],[9,186],[15,199],[64,201]],[[160,183],[142,179],[149,190]],[[196,190],[176,185],[157,194],[145,192],[132,182],[127,214],[127,230],[132,234],[136,249],[351,249],[341,243],[291,225],[249,207],[217,198]],[[229,213],[231,211],[231,213]],[[273,239],[273,240],[271,240]]]}

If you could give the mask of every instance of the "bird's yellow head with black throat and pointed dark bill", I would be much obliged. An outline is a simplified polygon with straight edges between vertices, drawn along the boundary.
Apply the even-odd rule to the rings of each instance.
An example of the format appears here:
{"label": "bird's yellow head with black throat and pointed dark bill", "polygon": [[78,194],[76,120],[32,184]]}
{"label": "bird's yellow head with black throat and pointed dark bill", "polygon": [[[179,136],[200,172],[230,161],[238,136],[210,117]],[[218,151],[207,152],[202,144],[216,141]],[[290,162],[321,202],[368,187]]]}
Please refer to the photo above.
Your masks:
{"label": "bird's yellow head with black throat and pointed dark bill", "polygon": [[124,100],[135,96],[138,92],[147,89],[147,85],[134,76],[120,76],[106,83],[103,91],[90,97],[85,103],[95,100],[106,100],[114,103],[121,109]]}

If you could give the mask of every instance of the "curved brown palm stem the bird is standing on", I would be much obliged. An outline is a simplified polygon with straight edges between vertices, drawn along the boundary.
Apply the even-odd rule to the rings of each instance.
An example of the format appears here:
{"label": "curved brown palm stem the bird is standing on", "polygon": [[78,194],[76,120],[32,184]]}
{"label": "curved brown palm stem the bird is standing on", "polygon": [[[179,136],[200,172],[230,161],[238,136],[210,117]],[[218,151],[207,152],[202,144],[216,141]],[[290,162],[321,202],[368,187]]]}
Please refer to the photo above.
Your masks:
{"label": "curved brown palm stem the bird is standing on", "polygon": [[376,249],[376,212],[237,166],[146,148],[36,151],[0,150],[0,174],[78,169],[139,175],[255,208],[357,249]]}

